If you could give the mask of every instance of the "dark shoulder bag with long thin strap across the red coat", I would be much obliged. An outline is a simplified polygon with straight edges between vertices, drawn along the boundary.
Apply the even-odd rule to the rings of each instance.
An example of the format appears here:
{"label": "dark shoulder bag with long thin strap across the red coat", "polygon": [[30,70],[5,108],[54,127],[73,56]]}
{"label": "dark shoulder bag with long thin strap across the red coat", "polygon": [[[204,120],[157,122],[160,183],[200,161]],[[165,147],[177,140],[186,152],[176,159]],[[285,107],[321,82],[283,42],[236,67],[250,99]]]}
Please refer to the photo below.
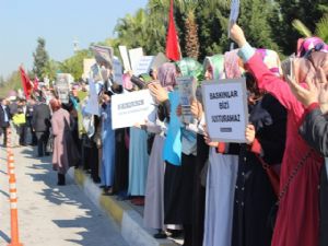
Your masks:
{"label": "dark shoulder bag with long thin strap across the red coat", "polygon": [[309,157],[309,155],[313,153],[314,149],[311,149],[298,162],[298,164],[293,168],[291,175],[289,176],[285,185],[282,187],[281,191],[278,195],[278,201],[273,204],[269,212],[268,223],[271,230],[273,231],[277,220],[277,214],[279,210],[279,204],[282,198],[285,196],[288,189],[290,188],[292,181],[295,179],[296,175],[298,174],[300,169],[304,166],[305,161]]}

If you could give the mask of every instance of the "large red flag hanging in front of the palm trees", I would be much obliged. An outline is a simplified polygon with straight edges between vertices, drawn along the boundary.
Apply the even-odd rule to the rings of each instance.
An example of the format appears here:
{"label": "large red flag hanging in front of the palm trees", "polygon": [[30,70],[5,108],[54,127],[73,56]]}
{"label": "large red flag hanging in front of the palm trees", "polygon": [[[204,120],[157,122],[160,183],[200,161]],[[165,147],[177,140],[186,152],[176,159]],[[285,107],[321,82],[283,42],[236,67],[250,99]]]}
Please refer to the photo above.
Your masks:
{"label": "large red flag hanging in front of the palm trees", "polygon": [[174,23],[173,0],[171,0],[169,5],[168,31],[166,37],[166,57],[175,61],[181,58],[178,36]]}

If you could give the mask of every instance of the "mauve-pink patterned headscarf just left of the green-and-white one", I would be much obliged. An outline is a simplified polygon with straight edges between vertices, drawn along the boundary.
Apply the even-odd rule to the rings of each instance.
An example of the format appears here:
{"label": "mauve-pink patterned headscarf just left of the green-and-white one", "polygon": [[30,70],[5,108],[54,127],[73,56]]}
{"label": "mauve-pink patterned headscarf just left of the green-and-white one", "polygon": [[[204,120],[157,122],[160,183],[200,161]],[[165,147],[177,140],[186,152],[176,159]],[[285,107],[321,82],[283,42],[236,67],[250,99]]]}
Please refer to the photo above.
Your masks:
{"label": "mauve-pink patterned headscarf just left of the green-and-white one", "polygon": [[159,68],[157,77],[163,87],[172,91],[176,85],[176,67],[175,63],[165,62]]}

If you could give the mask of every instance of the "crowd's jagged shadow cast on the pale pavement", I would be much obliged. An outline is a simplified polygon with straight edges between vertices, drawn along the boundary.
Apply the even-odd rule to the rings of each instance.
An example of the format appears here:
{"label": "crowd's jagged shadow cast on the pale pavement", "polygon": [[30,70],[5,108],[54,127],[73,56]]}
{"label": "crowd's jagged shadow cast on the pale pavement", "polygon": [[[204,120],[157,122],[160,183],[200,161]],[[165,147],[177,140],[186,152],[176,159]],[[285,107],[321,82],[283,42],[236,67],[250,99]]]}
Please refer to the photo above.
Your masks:
{"label": "crowd's jagged shadow cast on the pale pavement", "polygon": [[[42,160],[42,161],[46,161],[46,160]],[[116,244],[112,244],[112,243],[107,244],[104,241],[104,238],[102,238],[102,236],[97,236],[97,237],[95,236],[98,235],[95,233],[97,230],[104,230],[104,229],[99,229],[98,226],[101,226],[102,223],[97,225],[97,223],[93,221],[93,219],[96,216],[105,218],[105,214],[98,211],[96,207],[90,200],[87,200],[87,198],[78,196],[82,191],[74,183],[74,180],[68,177],[68,175],[66,176],[67,185],[57,186],[57,172],[52,169],[50,159],[47,161],[48,162],[36,163],[27,167],[31,172],[27,172],[26,175],[31,176],[33,181],[43,181],[46,185],[47,188],[37,190],[35,192],[38,194],[39,196],[43,196],[49,202],[57,206],[60,204],[74,206],[78,207],[77,209],[79,209],[80,211],[83,211],[82,216],[80,215],[72,220],[52,220],[52,222],[59,227],[79,229],[78,231],[81,231],[75,233],[75,235],[80,235],[82,237],[81,239],[67,239],[67,241],[83,246],[94,246],[94,245],[115,246]],[[33,171],[42,171],[42,172],[36,173]],[[94,210],[92,210],[93,208]],[[114,233],[113,230],[110,231],[112,233]],[[115,232],[119,234],[117,230]],[[107,234],[107,232],[104,231],[104,234]]]}

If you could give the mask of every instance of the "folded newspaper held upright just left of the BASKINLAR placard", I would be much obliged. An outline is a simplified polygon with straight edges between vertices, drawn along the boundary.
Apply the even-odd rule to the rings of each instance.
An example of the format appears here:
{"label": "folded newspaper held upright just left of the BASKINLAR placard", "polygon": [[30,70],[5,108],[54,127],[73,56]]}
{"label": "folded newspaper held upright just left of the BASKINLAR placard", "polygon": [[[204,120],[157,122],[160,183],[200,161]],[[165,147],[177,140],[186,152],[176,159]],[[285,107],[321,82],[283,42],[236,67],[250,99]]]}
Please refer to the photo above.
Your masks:
{"label": "folded newspaper held upright just left of the BASKINLAR placard", "polygon": [[197,82],[192,77],[176,78],[179,89],[179,101],[181,105],[183,122],[192,122],[192,114],[190,110],[190,102],[196,98]]}

